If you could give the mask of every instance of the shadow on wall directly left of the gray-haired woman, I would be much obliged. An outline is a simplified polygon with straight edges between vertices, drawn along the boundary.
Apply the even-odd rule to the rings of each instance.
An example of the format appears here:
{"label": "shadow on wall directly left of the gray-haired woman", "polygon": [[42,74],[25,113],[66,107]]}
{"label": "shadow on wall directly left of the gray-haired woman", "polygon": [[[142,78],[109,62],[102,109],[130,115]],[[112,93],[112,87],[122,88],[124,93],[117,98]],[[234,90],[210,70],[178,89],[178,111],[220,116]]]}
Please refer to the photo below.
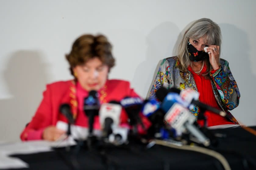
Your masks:
{"label": "shadow on wall directly left of the gray-haired woman", "polygon": [[179,33],[174,23],[164,22],[148,34],[146,60],[139,64],[133,77],[133,82],[137,82],[136,91],[142,97],[148,97],[162,59],[173,56],[172,49]]}

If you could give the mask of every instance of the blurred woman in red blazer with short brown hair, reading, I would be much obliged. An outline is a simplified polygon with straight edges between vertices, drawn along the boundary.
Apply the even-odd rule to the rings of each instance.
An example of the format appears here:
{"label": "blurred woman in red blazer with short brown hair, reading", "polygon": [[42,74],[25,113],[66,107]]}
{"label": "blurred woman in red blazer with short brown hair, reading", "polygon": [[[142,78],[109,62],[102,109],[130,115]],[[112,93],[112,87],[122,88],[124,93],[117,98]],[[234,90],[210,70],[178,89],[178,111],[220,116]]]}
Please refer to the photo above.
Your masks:
{"label": "blurred woman in red blazer with short brown hair, reading", "polygon": [[[91,90],[98,91],[100,103],[111,100],[120,101],[124,97],[137,97],[130,83],[123,80],[108,80],[108,73],[115,64],[112,46],[103,35],[82,35],[73,43],[71,52],[66,55],[74,80],[59,81],[46,86],[43,100],[34,117],[20,135],[22,141],[57,140],[65,131],[55,127],[57,121],[67,122],[59,112],[59,106],[71,106],[75,125],[88,127],[88,119],[83,111],[84,97]],[[120,122],[127,123],[124,110]],[[142,117],[144,124],[149,121]],[[100,129],[99,117],[94,119],[94,129]]]}

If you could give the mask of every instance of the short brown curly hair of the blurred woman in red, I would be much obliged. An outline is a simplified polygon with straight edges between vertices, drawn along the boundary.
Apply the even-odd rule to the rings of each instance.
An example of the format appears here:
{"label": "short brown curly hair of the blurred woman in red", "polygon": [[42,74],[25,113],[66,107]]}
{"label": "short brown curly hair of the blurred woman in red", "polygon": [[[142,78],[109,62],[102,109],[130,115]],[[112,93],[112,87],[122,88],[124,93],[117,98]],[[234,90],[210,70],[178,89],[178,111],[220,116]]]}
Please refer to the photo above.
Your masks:
{"label": "short brown curly hair of the blurred woman in red", "polygon": [[115,65],[111,50],[112,45],[103,35],[85,34],[80,36],[73,43],[70,53],[66,54],[71,74],[74,76],[73,68],[75,66],[82,65],[94,57],[98,57],[110,70]]}

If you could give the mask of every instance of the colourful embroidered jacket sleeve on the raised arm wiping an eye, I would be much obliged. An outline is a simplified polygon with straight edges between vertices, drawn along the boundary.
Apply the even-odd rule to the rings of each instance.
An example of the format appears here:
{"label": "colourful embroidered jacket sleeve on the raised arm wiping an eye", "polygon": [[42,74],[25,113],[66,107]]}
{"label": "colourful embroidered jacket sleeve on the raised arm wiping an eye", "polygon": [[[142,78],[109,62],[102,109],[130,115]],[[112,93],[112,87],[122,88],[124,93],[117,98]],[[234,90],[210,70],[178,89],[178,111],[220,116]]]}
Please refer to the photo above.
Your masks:
{"label": "colourful embroidered jacket sleeve on the raised arm wiping an eye", "polygon": [[222,103],[228,110],[232,110],[239,104],[240,92],[229,69],[229,63],[223,59],[220,60],[220,63],[220,68],[212,71],[210,76],[219,92]]}

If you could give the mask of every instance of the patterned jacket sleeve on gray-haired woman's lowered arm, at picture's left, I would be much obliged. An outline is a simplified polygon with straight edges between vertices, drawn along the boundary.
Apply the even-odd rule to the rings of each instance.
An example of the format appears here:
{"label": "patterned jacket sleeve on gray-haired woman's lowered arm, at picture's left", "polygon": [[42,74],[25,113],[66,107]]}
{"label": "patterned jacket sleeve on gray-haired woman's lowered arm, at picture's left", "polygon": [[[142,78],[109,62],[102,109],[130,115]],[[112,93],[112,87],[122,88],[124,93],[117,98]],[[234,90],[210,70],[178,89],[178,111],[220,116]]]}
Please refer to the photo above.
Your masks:
{"label": "patterned jacket sleeve on gray-haired woman's lowered arm, at picture's left", "polygon": [[170,73],[169,62],[168,62],[168,60],[164,59],[164,60],[162,60],[160,66],[159,66],[154,84],[151,87],[150,94],[149,94],[149,100],[157,99],[157,97],[155,96],[155,92],[160,87],[165,87],[165,88],[169,89],[169,86],[170,86],[169,73]]}

